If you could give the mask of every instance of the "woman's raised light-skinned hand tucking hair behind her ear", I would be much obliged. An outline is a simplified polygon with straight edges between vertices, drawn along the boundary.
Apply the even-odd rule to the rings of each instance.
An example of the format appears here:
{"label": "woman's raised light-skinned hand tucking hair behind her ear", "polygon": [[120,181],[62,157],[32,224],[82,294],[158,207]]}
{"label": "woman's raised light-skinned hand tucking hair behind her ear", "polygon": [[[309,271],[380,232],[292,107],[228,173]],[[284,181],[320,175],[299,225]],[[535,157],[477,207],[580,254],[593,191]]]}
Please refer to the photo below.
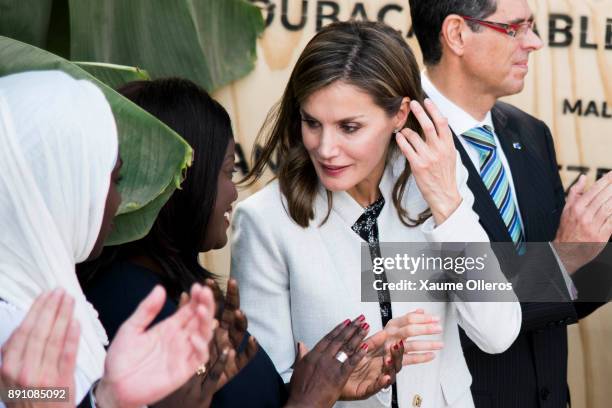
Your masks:
{"label": "woman's raised light-skinned hand tucking hair behind her ear", "polygon": [[431,100],[425,99],[425,108],[431,119],[417,101],[410,102],[410,110],[419,121],[425,140],[408,128],[397,133],[395,140],[410,163],[436,225],[440,225],[461,204],[456,179],[457,150],[448,120]]}

